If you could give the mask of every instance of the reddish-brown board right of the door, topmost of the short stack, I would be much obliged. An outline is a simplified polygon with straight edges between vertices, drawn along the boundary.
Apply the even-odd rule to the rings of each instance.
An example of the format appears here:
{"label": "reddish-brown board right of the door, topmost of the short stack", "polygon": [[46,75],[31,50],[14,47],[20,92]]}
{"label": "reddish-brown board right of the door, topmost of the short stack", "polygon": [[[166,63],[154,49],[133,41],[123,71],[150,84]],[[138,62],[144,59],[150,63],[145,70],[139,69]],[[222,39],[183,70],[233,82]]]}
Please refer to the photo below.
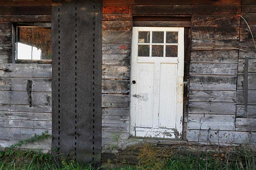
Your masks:
{"label": "reddish-brown board right of the door, topmost of the short stack", "polygon": [[192,15],[192,26],[239,26],[237,14]]}

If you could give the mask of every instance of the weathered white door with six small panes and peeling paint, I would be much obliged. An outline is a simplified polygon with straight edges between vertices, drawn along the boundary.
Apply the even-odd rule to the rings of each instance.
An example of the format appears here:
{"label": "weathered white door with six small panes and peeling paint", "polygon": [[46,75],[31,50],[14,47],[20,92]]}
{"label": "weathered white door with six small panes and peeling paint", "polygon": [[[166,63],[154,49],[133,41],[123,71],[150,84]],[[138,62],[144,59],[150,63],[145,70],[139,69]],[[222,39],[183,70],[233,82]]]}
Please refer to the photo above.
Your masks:
{"label": "weathered white door with six small panes and peeling paint", "polygon": [[131,135],[180,137],[184,27],[133,27]]}

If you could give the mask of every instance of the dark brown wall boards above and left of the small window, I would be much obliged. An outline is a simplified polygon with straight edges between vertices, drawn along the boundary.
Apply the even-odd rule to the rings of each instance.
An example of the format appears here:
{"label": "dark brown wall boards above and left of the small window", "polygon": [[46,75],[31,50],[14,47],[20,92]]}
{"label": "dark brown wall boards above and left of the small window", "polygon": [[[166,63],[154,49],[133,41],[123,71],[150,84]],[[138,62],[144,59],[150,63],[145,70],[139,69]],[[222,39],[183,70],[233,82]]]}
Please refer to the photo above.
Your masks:
{"label": "dark brown wall boards above and left of the small window", "polygon": [[13,23],[51,21],[51,0],[0,0],[0,63],[14,56]]}

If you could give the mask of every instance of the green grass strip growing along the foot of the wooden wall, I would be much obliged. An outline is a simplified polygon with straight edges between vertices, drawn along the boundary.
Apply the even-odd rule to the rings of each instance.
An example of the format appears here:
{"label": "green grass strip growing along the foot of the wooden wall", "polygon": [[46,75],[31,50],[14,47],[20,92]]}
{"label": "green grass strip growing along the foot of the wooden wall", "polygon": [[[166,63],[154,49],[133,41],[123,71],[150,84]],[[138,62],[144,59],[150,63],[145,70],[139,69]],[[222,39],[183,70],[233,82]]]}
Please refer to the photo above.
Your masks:
{"label": "green grass strip growing along the foot of the wooden wall", "polygon": [[[153,151],[154,152],[154,151]],[[149,151],[149,154],[153,154]],[[149,155],[148,154],[148,155]],[[144,157],[141,155],[137,165],[126,165],[122,168],[107,168],[102,166],[101,169],[255,169],[255,153],[248,150],[239,150],[232,153],[232,159],[227,161],[226,154],[208,153],[208,156],[201,154],[173,154],[172,156],[158,155],[152,159],[152,156]],[[145,154],[146,155],[146,154]],[[149,161],[147,160],[149,159]],[[95,169],[91,165],[81,165],[73,160],[62,160],[60,164],[56,163],[55,158],[50,153],[42,153],[32,150],[15,149],[12,153],[0,152],[0,170],[2,169]]]}

